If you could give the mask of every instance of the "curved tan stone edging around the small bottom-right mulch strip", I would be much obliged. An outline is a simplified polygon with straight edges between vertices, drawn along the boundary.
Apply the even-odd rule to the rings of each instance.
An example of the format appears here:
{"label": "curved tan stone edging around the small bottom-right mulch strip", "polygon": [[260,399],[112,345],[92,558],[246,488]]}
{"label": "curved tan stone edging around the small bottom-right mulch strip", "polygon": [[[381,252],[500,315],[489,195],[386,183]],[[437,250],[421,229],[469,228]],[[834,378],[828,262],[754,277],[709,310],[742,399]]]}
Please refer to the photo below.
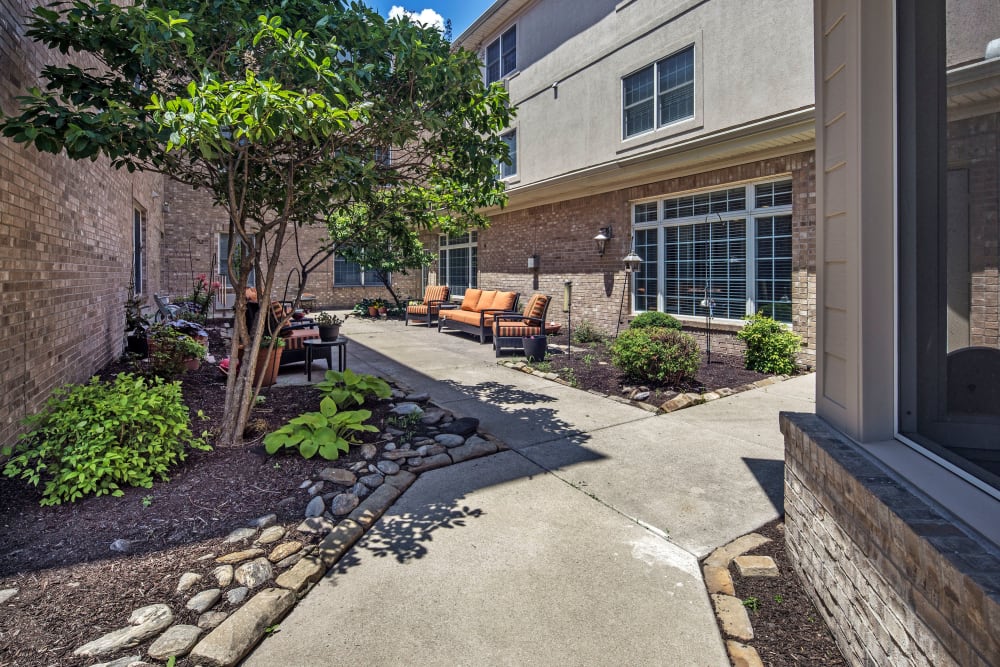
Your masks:
{"label": "curved tan stone edging around the small bottom-right mulch strip", "polygon": [[[712,607],[722,632],[734,639],[726,639],[726,651],[734,665],[763,667],[764,663],[757,649],[744,642],[753,639],[753,626],[743,601],[736,597],[733,578],[729,574],[729,564],[748,551],[752,551],[771,540],[758,533],[738,537],[729,544],[719,547],[702,561],[705,588],[712,598]],[[770,560],[770,559],[768,559]]]}

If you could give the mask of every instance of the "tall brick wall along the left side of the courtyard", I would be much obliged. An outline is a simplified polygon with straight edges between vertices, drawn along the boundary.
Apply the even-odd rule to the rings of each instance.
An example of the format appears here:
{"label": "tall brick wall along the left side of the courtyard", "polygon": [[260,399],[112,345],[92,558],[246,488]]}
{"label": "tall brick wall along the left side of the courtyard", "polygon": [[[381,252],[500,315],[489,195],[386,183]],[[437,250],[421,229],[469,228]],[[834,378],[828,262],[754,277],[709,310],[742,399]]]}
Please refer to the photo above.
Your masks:
{"label": "tall brick wall along the left side of the courtyard", "polygon": [[[58,57],[24,37],[40,3],[0,0],[0,108]],[[72,162],[0,139],[0,445],[52,389],[121,353],[133,204],[147,212],[147,292],[157,289],[162,179]],[[154,194],[156,196],[154,196]]]}

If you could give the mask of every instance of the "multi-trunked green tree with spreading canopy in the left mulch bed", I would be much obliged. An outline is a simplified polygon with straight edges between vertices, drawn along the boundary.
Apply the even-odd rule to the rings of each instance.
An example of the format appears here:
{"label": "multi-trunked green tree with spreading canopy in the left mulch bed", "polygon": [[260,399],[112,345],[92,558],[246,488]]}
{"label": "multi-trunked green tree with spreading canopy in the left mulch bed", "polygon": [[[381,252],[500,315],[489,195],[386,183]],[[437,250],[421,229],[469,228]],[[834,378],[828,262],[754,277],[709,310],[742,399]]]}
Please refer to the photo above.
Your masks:
{"label": "multi-trunked green tree with spreading canopy in the left mulch bed", "polygon": [[[265,318],[243,326],[248,276],[271,294],[298,227],[392,188],[433,212],[418,223],[483,224],[477,209],[504,202],[506,94],[433,28],[342,0],[76,0],[36,8],[27,34],[68,64],[44,68],[4,135],[211,192],[239,241],[233,353],[263,335]],[[223,442],[240,442],[249,416],[246,361],[229,376]]]}

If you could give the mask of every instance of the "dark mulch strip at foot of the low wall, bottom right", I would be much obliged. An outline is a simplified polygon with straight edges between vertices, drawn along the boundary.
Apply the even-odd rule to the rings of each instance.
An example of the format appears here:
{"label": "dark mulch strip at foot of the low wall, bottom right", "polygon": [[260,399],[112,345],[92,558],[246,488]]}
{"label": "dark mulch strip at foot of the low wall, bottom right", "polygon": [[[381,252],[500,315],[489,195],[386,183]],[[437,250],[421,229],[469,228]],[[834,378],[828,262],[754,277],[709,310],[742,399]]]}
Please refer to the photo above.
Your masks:
{"label": "dark mulch strip at foot of the low wall, bottom right", "polygon": [[747,555],[770,556],[781,576],[743,577],[736,565],[729,566],[736,597],[743,600],[753,625],[754,638],[745,643],[757,649],[768,667],[847,667],[822,615],[788,559],[783,519],[754,532],[771,541]]}

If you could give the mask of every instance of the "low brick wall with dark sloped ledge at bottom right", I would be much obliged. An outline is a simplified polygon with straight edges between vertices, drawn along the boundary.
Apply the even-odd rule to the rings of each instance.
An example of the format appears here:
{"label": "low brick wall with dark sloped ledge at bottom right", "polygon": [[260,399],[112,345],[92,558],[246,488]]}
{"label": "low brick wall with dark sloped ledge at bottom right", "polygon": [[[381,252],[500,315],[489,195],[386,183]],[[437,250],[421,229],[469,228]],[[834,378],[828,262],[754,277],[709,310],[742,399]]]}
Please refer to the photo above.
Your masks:
{"label": "low brick wall with dark sloped ledge at bottom right", "polygon": [[781,430],[789,555],[848,661],[1000,664],[997,548],[819,417]]}

